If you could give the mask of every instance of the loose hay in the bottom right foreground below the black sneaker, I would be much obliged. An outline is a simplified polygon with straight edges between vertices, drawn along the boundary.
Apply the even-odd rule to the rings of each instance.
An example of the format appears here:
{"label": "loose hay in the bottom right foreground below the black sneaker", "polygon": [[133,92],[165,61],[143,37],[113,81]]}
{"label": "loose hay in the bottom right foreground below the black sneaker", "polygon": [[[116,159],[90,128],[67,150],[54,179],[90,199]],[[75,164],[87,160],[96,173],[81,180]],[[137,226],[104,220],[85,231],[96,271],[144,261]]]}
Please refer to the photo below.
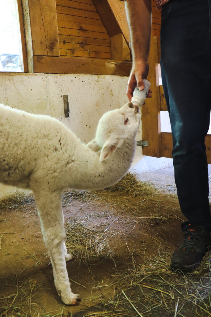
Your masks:
{"label": "loose hay in the bottom right foreground below the black sneaker", "polygon": [[[171,254],[160,253],[145,264],[121,262],[113,272],[115,294],[102,301],[101,312],[84,317],[211,316],[211,263],[209,255],[200,269],[184,274],[169,269]],[[97,287],[96,287],[97,290]]]}

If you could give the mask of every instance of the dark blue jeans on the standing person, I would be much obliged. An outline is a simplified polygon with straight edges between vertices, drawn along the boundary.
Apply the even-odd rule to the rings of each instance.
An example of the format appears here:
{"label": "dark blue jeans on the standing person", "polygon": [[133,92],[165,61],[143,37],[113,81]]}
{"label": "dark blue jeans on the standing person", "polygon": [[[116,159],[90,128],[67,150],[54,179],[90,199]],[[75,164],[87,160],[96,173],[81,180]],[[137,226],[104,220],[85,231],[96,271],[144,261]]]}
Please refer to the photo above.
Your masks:
{"label": "dark blue jeans on the standing person", "polygon": [[[162,9],[161,73],[173,137],[173,165],[184,231],[211,231],[204,139],[211,108],[211,0],[170,0]],[[210,145],[211,146],[211,145]]]}

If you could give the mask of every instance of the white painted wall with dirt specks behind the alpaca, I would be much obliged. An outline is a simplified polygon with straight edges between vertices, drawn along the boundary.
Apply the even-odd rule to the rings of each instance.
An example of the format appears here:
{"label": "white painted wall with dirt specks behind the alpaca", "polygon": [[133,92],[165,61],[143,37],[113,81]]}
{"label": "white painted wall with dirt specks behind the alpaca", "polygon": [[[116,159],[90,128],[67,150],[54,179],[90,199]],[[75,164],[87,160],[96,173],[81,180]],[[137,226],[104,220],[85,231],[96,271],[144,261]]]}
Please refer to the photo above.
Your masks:
{"label": "white painted wall with dirt specks behind the alpaca", "polygon": [[[102,114],[128,102],[127,80],[127,76],[110,75],[4,73],[0,74],[0,103],[55,117],[88,143]],[[64,116],[63,95],[68,95],[69,118]],[[141,140],[141,134],[140,126],[137,140]],[[172,159],[143,156],[141,147],[137,147],[134,170],[146,172],[169,166]],[[0,184],[0,198],[15,190]]]}

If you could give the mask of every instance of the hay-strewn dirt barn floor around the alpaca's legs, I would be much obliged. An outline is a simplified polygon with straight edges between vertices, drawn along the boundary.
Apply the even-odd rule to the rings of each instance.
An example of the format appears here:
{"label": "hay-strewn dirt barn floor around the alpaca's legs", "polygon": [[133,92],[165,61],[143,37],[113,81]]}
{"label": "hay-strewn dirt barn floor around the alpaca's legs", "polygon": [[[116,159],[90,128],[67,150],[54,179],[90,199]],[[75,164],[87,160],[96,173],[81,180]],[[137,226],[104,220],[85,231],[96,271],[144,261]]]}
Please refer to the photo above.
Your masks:
{"label": "hay-strewn dirt barn floor around the alpaca's legs", "polygon": [[137,178],[149,191],[120,192],[120,203],[102,194],[65,199],[78,306],[65,306],[55,290],[33,199],[0,209],[0,316],[211,316],[210,252],[194,273],[169,269],[183,221],[173,169]]}

